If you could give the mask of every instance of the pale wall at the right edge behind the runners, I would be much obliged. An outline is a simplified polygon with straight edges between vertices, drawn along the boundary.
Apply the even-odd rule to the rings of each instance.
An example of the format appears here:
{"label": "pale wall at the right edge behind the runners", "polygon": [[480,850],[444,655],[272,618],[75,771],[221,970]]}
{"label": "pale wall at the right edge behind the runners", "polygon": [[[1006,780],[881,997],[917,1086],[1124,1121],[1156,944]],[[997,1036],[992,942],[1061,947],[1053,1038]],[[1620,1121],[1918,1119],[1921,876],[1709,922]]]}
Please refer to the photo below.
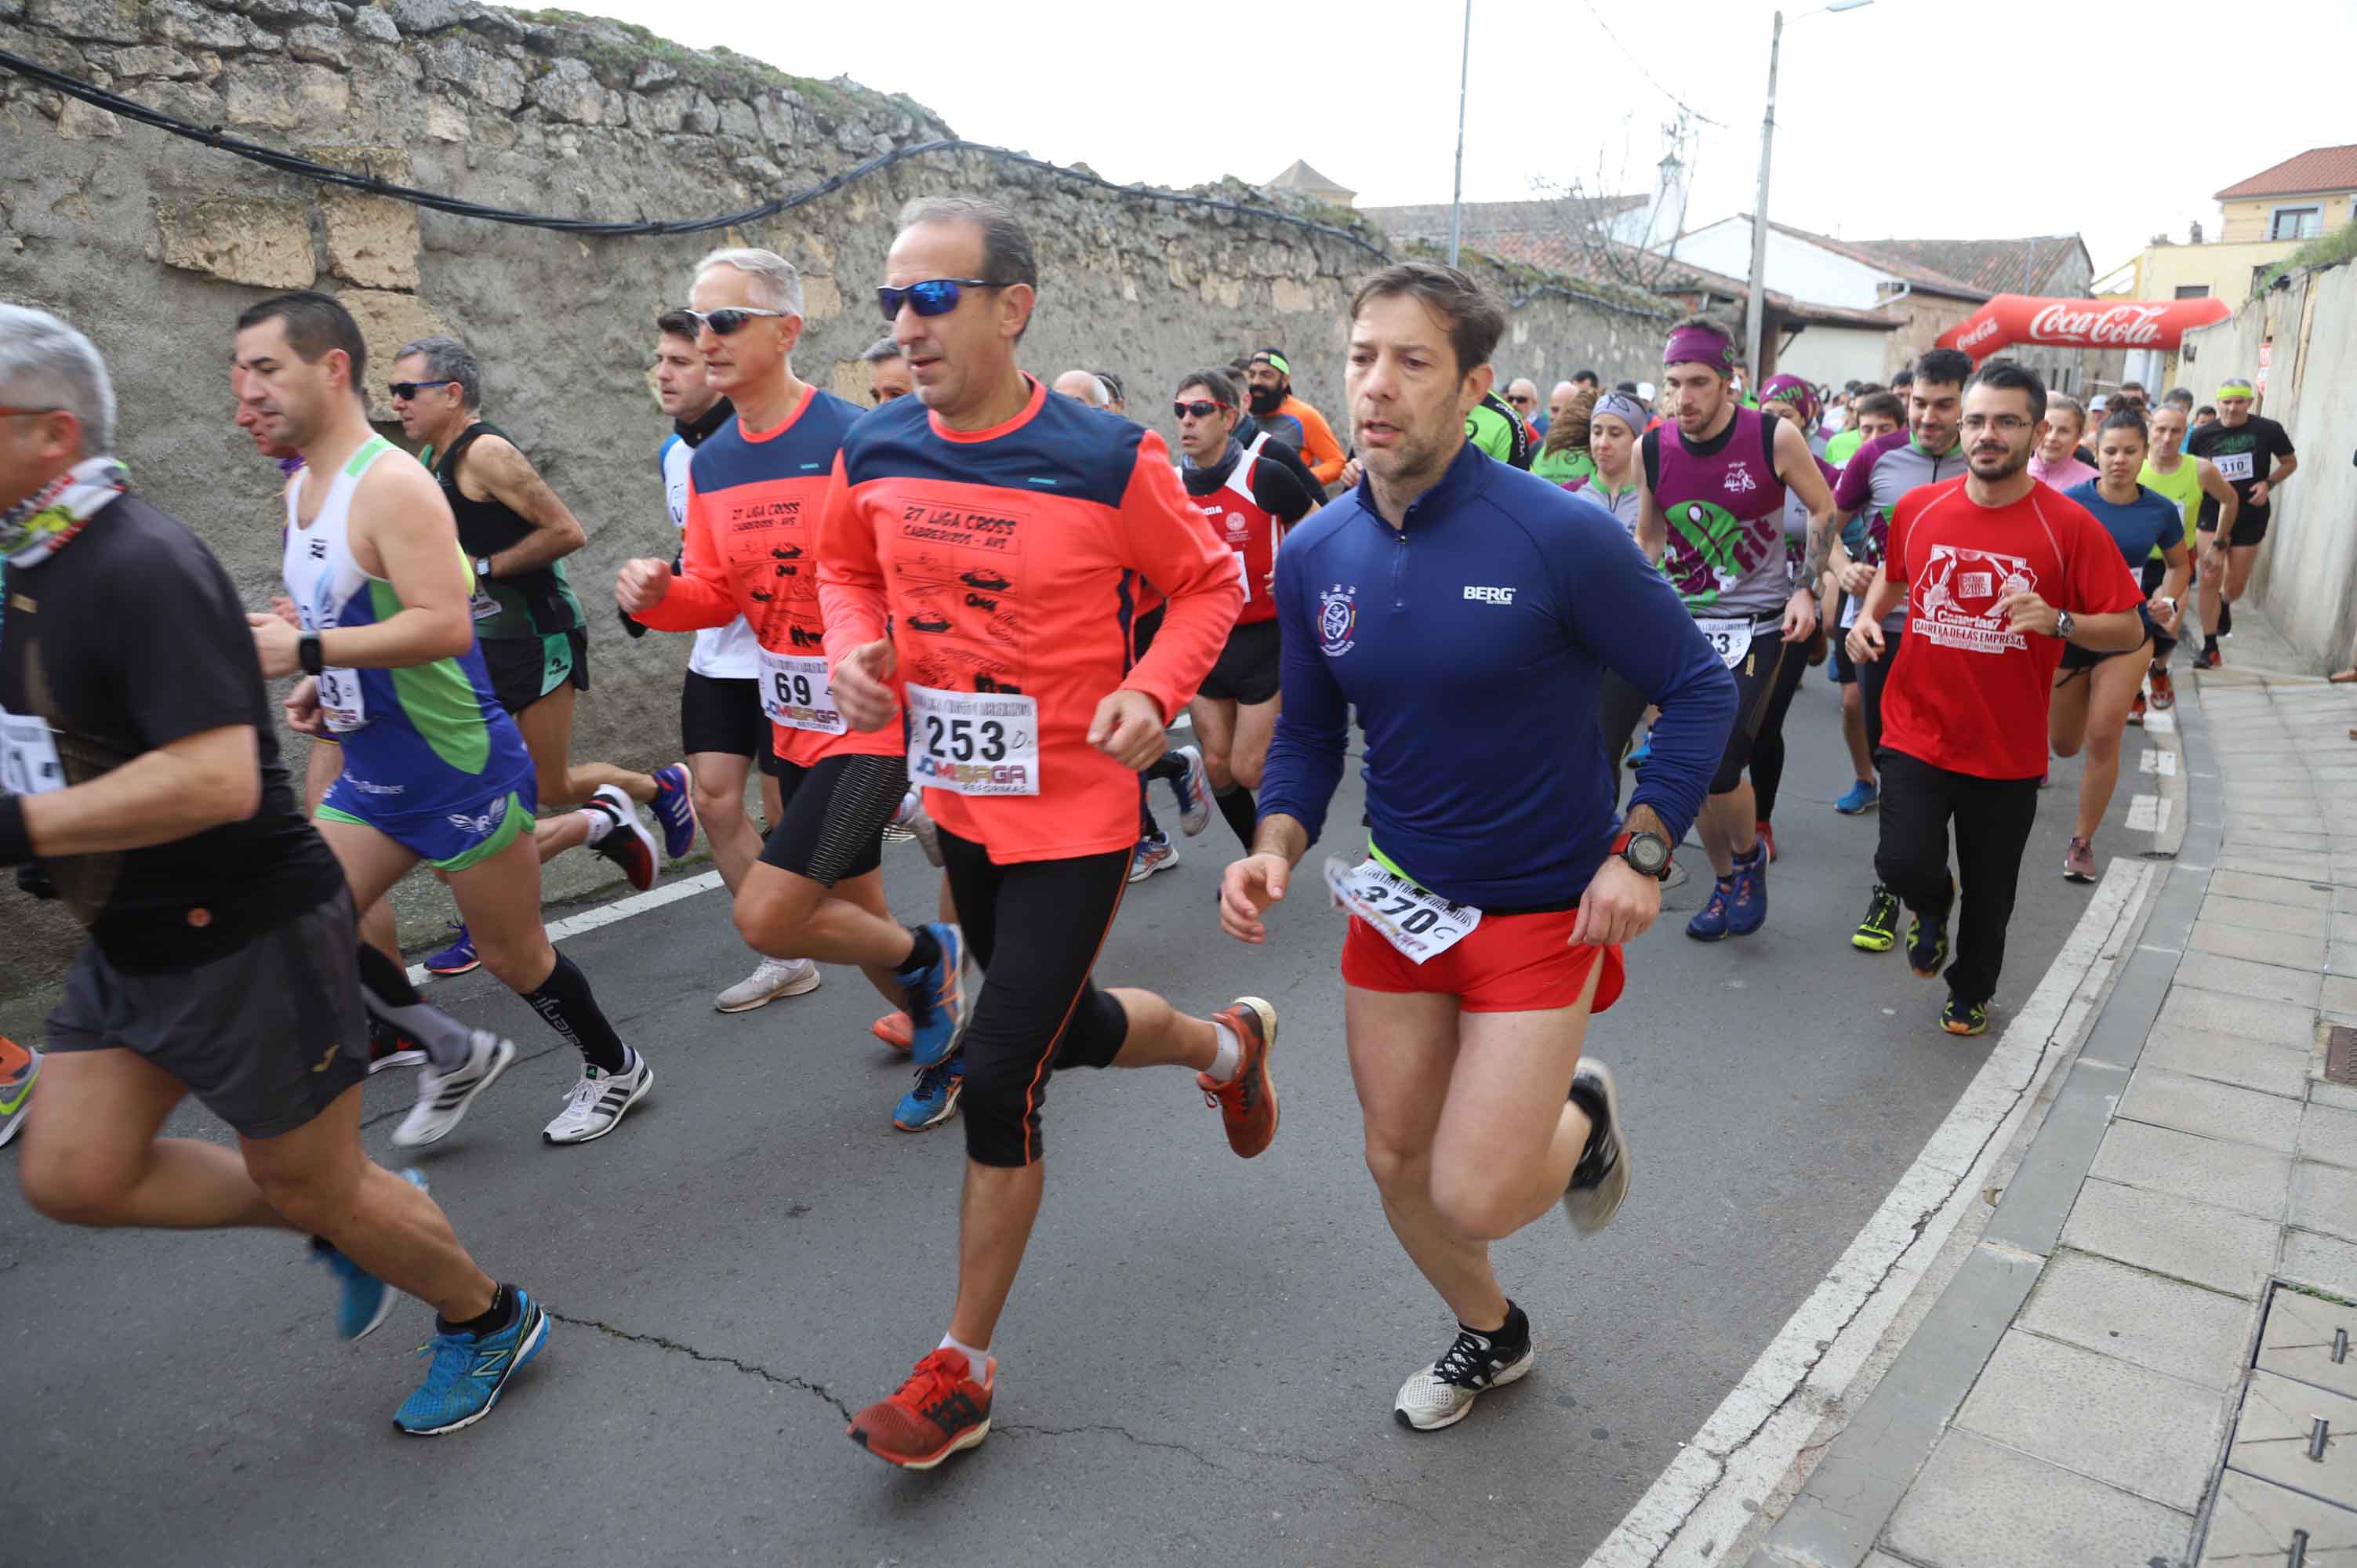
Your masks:
{"label": "pale wall at the right edge behind the runners", "polygon": [[2357,637],[2357,266],[2300,274],[2185,342],[2204,401],[2227,375],[2253,375],[2272,344],[2258,413],[2291,431],[2300,472],[2275,502],[2251,592],[2317,670],[2341,670]]}

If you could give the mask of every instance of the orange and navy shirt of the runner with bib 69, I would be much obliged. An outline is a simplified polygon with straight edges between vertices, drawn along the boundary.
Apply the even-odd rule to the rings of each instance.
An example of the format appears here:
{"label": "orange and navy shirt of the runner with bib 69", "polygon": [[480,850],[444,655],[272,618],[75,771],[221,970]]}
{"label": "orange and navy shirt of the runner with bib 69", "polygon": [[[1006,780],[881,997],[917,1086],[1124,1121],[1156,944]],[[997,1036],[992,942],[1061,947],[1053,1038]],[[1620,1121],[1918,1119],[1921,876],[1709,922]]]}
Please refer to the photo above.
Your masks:
{"label": "orange and navy shirt of the runner with bib 69", "polygon": [[[766,653],[823,660],[818,615],[818,507],[834,455],[860,408],[806,389],[775,429],[731,420],[688,460],[688,519],[679,575],[639,620],[658,632],[693,632],[745,615]],[[811,667],[816,677],[818,665]],[[773,679],[764,672],[764,681]],[[804,703],[827,712],[832,703]],[[827,733],[771,724],[778,757],[811,766],[820,757],[898,757],[896,731]]]}

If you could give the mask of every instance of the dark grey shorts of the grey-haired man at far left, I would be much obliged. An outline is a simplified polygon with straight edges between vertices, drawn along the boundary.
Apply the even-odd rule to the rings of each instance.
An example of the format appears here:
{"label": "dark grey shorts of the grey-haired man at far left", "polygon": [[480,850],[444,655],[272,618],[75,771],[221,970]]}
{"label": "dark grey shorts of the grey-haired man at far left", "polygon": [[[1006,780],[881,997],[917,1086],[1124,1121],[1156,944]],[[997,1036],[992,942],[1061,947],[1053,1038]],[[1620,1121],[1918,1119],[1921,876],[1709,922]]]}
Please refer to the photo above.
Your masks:
{"label": "dark grey shorts of the grey-haired man at far left", "polygon": [[125,974],[85,943],[40,1049],[137,1052],[238,1134],[276,1139],[368,1078],[356,953],[349,891],[196,969]]}

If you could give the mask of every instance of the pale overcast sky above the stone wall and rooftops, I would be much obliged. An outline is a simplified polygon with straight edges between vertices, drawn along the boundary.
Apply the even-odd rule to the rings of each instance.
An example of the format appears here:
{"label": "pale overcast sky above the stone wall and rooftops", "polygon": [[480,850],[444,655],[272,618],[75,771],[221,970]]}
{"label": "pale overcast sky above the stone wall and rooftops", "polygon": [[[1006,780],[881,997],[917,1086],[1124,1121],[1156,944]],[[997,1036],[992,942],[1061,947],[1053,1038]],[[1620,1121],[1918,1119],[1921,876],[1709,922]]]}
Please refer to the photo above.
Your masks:
{"label": "pale overcast sky above the stone wall and rooftops", "polygon": [[[1473,0],[1466,200],[1525,198],[1534,182],[1593,182],[1598,170],[1650,189],[1662,127],[1678,113],[1666,90],[1723,120],[1695,125],[1688,226],[1751,210],[1772,7],[1593,5]],[[726,42],[797,75],[849,73],[931,106],[962,137],[1108,179],[1266,182],[1308,158],[1360,205],[1450,198],[1454,0],[585,9],[698,47]],[[1805,9],[1787,7],[1768,205],[1820,233],[2077,229],[2100,276],[2159,231],[2183,241],[2201,222],[2216,238],[2213,191],[2357,139],[2357,0]]]}

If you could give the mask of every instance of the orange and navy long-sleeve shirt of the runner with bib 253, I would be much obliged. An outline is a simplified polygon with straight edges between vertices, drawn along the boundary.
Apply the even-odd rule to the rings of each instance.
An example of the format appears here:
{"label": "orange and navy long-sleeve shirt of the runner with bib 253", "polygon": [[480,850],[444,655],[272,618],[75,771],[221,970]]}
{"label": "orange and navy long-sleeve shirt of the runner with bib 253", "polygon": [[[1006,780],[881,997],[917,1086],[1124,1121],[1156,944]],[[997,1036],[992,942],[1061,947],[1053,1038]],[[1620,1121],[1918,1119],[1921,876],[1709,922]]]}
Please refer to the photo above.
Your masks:
{"label": "orange and navy long-sleeve shirt of the runner with bib 253", "polygon": [[[992,429],[950,429],[917,398],[863,417],[823,502],[818,580],[830,663],[889,625],[903,686],[1037,705],[1035,795],[926,788],[933,821],[1002,865],[1136,842],[1138,776],[1089,745],[1096,705],[1127,686],[1174,717],[1244,601],[1162,436],[1039,382]],[[1131,667],[1141,580],[1169,611]]]}

